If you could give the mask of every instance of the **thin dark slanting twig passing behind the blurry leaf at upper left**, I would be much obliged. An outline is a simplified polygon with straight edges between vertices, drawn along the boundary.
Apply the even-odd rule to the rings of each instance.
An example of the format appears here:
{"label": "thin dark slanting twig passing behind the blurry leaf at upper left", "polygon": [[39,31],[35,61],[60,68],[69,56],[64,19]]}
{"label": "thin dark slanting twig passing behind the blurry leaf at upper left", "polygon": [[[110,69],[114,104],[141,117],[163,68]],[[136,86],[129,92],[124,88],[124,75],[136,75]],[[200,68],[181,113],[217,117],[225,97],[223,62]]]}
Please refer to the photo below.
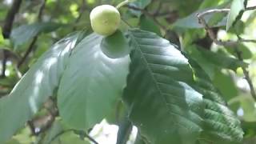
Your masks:
{"label": "thin dark slanting twig passing behind the blurry leaf at upper left", "polygon": [[[45,9],[46,7],[46,2],[47,0],[42,0],[42,4],[39,8],[39,11],[38,11],[38,22],[41,22],[42,21],[42,13],[43,13],[43,10]],[[28,49],[26,50],[26,53],[24,54],[24,56],[21,58],[21,60],[18,62],[18,68],[20,66],[22,66],[22,64],[26,61],[26,58],[30,55],[30,53],[34,50],[34,45],[35,43],[37,42],[38,40],[38,35],[34,36],[32,42],[30,43],[30,46],[28,47]]]}

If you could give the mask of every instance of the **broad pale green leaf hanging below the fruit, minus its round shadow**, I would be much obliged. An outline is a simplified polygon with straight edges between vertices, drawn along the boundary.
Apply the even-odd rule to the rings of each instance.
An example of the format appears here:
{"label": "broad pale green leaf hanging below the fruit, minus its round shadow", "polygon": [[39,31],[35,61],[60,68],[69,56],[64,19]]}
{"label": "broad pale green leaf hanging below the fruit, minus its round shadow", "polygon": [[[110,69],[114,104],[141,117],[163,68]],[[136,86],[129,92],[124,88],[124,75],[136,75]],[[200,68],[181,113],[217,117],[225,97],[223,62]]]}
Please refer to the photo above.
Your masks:
{"label": "broad pale green leaf hanging below the fruit, minus its round shadow", "polygon": [[78,130],[89,129],[109,115],[126,83],[129,56],[107,57],[102,38],[90,34],[74,48],[58,89],[60,116]]}

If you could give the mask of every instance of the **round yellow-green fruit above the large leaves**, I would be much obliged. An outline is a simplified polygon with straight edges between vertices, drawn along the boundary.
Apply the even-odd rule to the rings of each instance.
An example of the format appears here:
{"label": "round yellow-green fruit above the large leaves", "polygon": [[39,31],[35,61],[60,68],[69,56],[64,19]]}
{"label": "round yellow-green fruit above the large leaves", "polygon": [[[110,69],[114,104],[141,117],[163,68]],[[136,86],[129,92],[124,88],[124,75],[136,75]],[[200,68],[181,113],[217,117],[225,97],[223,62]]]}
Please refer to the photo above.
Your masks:
{"label": "round yellow-green fruit above the large leaves", "polygon": [[90,12],[90,24],[95,33],[104,36],[114,34],[118,30],[121,18],[119,11],[110,5],[96,6]]}

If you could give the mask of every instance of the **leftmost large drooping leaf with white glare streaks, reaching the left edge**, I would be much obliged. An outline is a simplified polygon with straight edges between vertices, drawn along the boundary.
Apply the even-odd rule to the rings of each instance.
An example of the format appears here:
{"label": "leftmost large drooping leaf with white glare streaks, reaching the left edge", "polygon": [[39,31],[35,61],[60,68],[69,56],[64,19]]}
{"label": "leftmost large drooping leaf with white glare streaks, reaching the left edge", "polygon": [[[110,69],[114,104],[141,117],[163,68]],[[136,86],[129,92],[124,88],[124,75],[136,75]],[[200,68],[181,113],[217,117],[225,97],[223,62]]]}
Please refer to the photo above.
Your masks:
{"label": "leftmost large drooping leaf with white glare streaks, reaching the left edge", "polygon": [[72,34],[52,46],[31,66],[10,95],[0,99],[0,143],[24,126],[53,94],[78,35]]}

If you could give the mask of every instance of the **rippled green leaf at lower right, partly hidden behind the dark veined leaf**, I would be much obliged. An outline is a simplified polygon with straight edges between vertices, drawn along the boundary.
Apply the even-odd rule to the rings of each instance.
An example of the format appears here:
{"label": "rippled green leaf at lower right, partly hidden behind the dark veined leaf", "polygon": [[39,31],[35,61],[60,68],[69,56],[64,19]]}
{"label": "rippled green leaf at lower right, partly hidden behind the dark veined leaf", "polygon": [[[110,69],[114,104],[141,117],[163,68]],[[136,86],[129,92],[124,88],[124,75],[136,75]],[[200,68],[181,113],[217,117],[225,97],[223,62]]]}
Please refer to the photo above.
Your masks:
{"label": "rippled green leaf at lower right, partly hidden behind the dark veined leaf", "polygon": [[242,129],[240,121],[226,106],[210,81],[208,75],[192,59],[190,64],[194,68],[195,80],[197,84],[192,84],[194,89],[203,94],[203,101],[206,104],[204,110],[203,131],[199,140],[213,144],[239,143],[242,141]]}

